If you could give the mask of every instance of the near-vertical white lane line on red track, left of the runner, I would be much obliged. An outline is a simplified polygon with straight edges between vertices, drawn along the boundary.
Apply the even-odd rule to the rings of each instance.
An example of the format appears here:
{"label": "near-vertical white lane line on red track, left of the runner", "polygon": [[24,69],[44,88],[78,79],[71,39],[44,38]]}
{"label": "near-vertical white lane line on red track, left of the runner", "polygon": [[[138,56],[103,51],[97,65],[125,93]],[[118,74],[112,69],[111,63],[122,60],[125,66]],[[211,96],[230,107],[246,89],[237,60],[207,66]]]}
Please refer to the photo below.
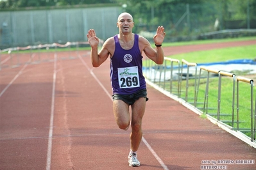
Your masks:
{"label": "near-vertical white lane line on red track, left of the runner", "polygon": [[57,56],[55,54],[54,66],[53,66],[53,89],[51,95],[51,118],[49,125],[49,136],[48,136],[48,148],[47,148],[47,158],[46,158],[46,170],[51,169],[51,148],[53,143],[53,118],[55,109],[55,82],[56,82],[56,62]]}

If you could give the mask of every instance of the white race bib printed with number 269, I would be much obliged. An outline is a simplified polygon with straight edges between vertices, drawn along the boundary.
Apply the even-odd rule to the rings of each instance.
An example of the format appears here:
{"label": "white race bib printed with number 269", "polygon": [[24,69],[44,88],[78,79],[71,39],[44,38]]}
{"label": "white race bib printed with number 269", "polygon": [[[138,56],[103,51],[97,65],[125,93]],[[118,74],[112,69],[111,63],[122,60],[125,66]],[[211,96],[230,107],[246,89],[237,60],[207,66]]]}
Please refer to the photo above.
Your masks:
{"label": "white race bib printed with number 269", "polygon": [[120,88],[137,88],[140,86],[138,66],[117,69]]}

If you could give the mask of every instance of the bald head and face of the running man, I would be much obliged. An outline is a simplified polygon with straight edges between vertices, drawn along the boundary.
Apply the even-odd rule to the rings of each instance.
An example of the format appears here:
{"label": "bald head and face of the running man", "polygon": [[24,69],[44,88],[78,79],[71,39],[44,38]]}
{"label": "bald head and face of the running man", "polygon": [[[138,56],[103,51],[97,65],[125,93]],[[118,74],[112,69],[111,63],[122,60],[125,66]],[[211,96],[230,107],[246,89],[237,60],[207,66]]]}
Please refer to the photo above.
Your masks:
{"label": "bald head and face of the running man", "polygon": [[132,15],[129,13],[123,13],[119,15],[117,20],[117,27],[119,27],[119,31],[122,33],[131,33],[134,22]]}

